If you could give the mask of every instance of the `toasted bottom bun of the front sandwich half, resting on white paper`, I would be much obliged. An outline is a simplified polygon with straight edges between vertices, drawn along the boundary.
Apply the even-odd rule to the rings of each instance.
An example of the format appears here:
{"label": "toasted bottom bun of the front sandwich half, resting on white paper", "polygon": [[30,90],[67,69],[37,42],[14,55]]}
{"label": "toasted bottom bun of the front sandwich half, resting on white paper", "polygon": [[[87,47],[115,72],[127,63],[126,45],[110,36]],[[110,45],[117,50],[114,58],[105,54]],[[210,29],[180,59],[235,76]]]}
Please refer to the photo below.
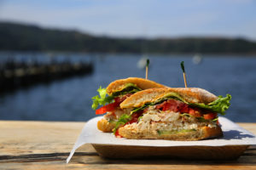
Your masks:
{"label": "toasted bottom bun of the front sandwich half, resting on white paper", "polygon": [[159,134],[150,128],[142,130],[141,128],[126,125],[125,127],[119,127],[119,134],[126,139],[167,139],[184,141],[217,138],[223,136],[223,132],[219,126],[199,127],[196,131],[192,132]]}

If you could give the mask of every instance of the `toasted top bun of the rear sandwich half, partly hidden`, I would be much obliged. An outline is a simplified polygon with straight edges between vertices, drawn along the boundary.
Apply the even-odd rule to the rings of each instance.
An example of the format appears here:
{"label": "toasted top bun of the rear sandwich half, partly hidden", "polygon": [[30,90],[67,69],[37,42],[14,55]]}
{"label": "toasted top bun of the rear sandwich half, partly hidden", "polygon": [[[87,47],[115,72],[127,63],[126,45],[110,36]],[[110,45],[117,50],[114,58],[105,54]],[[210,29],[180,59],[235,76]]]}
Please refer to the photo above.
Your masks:
{"label": "toasted top bun of the rear sandwich half, partly hidden", "polygon": [[164,88],[165,86],[162,84],[159,84],[157,82],[153,82],[151,80],[147,80],[144,78],[138,78],[138,77],[129,77],[126,79],[119,79],[114,82],[111,82],[108,85],[107,88],[107,94],[113,94],[116,91],[119,91],[123,88],[125,88],[125,84],[127,83],[133,83],[136,84],[138,88],[142,89],[148,89],[148,88]]}

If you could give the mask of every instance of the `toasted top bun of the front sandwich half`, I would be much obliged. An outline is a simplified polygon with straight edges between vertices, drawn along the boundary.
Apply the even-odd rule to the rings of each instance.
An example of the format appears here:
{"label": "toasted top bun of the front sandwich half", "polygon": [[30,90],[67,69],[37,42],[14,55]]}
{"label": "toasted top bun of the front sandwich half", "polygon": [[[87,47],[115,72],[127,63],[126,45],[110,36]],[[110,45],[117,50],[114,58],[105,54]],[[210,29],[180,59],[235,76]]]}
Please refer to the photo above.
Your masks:
{"label": "toasted top bun of the front sandwich half", "polygon": [[132,94],[120,105],[123,108],[140,107],[145,103],[154,102],[167,93],[176,93],[189,103],[208,104],[218,99],[217,96],[201,88],[150,88],[136,94]]}

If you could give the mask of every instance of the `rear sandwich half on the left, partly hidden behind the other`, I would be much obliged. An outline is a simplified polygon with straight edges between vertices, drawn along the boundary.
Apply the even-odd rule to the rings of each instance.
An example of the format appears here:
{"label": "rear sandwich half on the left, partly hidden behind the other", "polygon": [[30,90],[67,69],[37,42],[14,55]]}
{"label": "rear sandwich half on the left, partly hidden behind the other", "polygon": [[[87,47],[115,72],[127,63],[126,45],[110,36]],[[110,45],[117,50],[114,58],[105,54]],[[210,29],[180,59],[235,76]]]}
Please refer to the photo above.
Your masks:
{"label": "rear sandwich half on the left, partly hidden behind the other", "polygon": [[[131,94],[148,89],[148,88],[163,88],[157,82],[150,81],[148,79],[129,77],[126,79],[116,80],[108,85],[108,88],[99,88],[97,91],[99,95],[93,97],[92,109],[96,110],[99,105],[103,105],[96,110],[96,115],[107,113],[102,120],[97,122],[97,127],[104,133],[113,132],[113,128],[116,126],[120,116],[123,114],[130,114],[130,108],[121,109],[119,105],[128,99]],[[107,95],[108,94],[108,95]]]}

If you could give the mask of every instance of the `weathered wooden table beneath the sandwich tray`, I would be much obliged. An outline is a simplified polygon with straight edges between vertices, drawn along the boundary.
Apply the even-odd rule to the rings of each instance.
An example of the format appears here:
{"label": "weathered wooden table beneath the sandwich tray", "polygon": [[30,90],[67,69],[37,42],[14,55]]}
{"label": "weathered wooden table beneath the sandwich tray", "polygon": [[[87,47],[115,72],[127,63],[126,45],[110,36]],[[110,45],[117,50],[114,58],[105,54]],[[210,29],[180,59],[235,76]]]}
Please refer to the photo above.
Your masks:
{"label": "weathered wooden table beneath the sandwich tray", "polygon": [[[238,124],[256,134],[256,123]],[[66,164],[83,127],[84,122],[0,121],[0,169],[256,169],[255,146],[235,161],[188,161],[107,160],[85,144]]]}

